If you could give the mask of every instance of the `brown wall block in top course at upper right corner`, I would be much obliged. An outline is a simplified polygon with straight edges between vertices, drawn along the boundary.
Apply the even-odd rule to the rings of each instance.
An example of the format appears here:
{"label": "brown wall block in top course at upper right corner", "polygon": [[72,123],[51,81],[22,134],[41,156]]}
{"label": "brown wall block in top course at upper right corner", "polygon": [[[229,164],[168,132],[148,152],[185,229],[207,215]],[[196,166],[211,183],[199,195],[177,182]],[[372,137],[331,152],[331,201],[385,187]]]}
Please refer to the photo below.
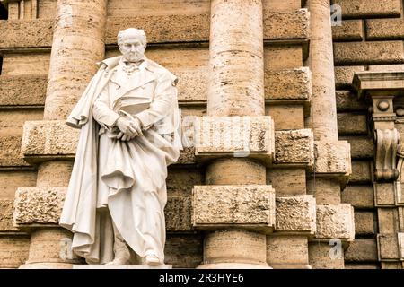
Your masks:
{"label": "brown wall block in top course at upper right corner", "polygon": [[344,18],[400,17],[400,0],[334,0]]}

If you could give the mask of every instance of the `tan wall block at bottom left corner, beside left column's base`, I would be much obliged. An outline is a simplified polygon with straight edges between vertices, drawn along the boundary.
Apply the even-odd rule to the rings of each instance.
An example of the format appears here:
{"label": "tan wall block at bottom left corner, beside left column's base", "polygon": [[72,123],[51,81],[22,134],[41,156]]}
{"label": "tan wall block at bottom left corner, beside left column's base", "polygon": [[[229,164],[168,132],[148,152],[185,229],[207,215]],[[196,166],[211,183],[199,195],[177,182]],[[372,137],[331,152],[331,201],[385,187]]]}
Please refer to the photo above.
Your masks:
{"label": "tan wall block at bottom left corner, beside left column's base", "polygon": [[0,268],[18,268],[28,258],[29,236],[0,236]]}

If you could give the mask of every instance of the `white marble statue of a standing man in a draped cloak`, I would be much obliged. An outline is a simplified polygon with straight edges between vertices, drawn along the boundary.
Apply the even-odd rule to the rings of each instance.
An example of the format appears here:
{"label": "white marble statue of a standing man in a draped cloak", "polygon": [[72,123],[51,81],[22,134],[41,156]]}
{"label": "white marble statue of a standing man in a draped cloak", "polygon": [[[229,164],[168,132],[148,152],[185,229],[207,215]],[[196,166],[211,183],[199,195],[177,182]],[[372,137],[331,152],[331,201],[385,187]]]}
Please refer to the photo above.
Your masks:
{"label": "white marble statue of a standing man in a draped cloak", "polygon": [[135,252],[162,265],[167,166],[182,149],[177,78],[145,57],[143,30],[118,44],[66,121],[81,131],[59,223],[89,264],[133,264]]}

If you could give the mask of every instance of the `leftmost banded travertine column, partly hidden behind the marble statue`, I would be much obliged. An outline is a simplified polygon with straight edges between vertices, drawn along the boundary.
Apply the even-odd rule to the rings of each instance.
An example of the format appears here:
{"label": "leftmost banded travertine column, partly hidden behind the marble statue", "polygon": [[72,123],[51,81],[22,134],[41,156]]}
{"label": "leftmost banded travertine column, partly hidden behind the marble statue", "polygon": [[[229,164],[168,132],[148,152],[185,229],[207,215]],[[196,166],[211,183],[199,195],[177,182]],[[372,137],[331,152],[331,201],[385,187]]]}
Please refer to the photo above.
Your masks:
{"label": "leftmost banded travertine column, partly hidden behind the marble statue", "polygon": [[[37,187],[31,195],[42,195],[44,200],[37,204],[56,212],[48,214],[48,218],[38,218],[40,214],[24,211],[23,204],[16,209],[17,225],[35,227],[31,229],[29,260],[21,268],[70,268],[78,262],[68,252],[70,232],[57,225],[73,164],[72,151],[66,146],[76,135],[64,122],[95,74],[96,62],[104,57],[106,17],[107,0],[57,1],[44,120],[25,124],[22,146],[26,158],[30,151],[40,151],[29,157],[29,161],[39,164]],[[47,140],[43,138],[56,144],[46,144]],[[40,147],[42,144],[43,148]],[[62,151],[53,150],[60,147]],[[24,195],[25,189],[19,188],[16,201],[22,202],[26,198]],[[31,214],[30,219],[24,214]]]}

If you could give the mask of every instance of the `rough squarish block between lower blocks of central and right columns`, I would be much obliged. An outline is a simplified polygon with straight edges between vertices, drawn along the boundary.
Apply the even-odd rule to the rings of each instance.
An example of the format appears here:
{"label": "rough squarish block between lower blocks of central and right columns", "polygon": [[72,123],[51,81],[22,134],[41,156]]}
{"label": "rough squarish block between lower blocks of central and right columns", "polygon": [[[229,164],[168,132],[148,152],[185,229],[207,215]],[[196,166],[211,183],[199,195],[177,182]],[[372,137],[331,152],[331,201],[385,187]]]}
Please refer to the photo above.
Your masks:
{"label": "rough squarish block between lower blocks of central and right columns", "polygon": [[277,197],[276,204],[276,232],[316,232],[316,202],[312,196]]}

